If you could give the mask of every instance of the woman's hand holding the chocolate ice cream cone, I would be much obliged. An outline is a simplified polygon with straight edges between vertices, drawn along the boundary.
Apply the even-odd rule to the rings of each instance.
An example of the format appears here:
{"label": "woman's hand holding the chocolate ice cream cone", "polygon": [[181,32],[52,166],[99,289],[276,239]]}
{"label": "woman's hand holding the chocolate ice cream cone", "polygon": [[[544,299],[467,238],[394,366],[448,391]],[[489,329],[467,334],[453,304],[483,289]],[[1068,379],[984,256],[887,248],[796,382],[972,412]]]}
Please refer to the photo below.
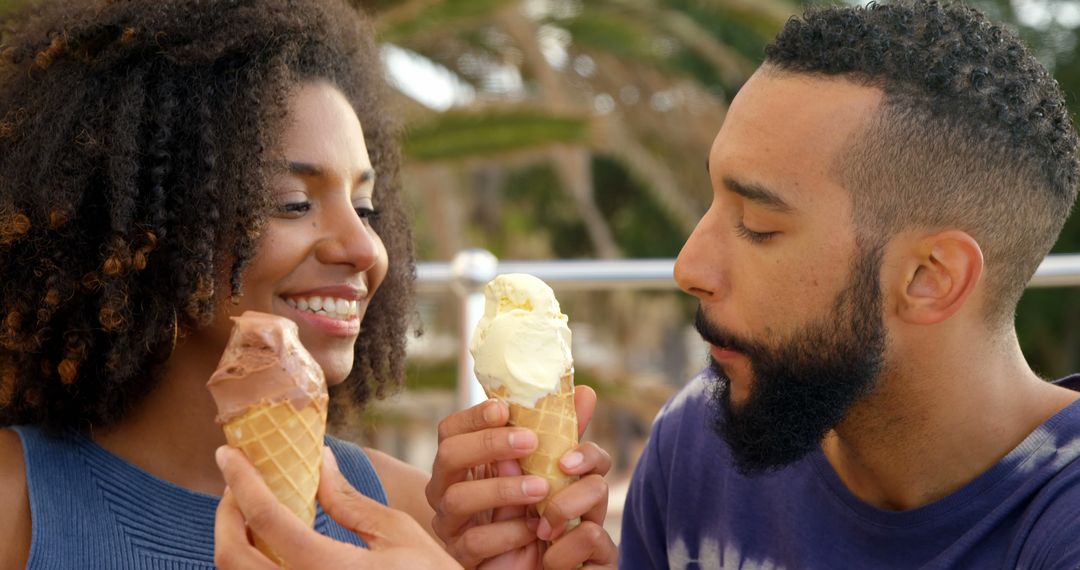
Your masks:
{"label": "woman's hand holding the chocolate ice cream cone", "polygon": [[306,527],[273,497],[239,450],[221,447],[217,460],[228,485],[217,507],[214,529],[214,560],[224,570],[278,568],[255,548],[248,529],[289,568],[461,568],[411,517],[353,489],[338,471],[328,448],[323,448],[319,502],[338,524],[364,539],[370,549],[337,542]]}

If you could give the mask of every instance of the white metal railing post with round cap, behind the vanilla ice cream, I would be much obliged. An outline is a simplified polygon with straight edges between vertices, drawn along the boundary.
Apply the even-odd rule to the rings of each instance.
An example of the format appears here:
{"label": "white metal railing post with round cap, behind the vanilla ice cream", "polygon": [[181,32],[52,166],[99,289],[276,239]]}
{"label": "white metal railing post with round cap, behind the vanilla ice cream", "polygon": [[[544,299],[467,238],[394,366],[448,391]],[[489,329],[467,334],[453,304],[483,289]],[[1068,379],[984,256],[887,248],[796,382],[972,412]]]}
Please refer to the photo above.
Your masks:
{"label": "white metal railing post with round cap, behind the vanilla ice cream", "polygon": [[461,301],[458,334],[458,409],[464,409],[486,399],[484,389],[473,372],[473,357],[469,352],[476,323],[484,316],[484,285],[495,279],[499,259],[487,249],[464,249],[450,262],[450,286]]}

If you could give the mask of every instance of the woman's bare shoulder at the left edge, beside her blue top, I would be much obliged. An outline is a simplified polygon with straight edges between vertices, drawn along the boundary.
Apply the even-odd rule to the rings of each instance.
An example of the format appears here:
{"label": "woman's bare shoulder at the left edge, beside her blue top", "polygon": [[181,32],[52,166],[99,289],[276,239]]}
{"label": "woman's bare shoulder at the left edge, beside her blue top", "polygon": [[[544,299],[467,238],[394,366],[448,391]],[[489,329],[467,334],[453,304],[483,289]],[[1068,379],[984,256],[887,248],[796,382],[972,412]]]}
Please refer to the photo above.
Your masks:
{"label": "woman's bare shoulder at the left edge, beside her blue top", "polygon": [[26,486],[26,464],[18,434],[0,429],[0,570],[25,568],[30,554],[30,497]]}

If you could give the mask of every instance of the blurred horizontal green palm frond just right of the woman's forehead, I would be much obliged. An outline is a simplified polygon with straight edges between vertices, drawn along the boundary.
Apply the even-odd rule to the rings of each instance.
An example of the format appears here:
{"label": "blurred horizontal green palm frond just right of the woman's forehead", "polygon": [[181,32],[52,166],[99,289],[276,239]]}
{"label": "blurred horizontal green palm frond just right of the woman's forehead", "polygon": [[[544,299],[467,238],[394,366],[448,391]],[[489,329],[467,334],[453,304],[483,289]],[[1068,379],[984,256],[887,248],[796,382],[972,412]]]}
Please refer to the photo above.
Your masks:
{"label": "blurred horizontal green palm frond just right of the woman's forehead", "polygon": [[409,130],[403,144],[406,157],[421,161],[494,157],[558,142],[589,138],[584,119],[556,117],[531,110],[450,111]]}

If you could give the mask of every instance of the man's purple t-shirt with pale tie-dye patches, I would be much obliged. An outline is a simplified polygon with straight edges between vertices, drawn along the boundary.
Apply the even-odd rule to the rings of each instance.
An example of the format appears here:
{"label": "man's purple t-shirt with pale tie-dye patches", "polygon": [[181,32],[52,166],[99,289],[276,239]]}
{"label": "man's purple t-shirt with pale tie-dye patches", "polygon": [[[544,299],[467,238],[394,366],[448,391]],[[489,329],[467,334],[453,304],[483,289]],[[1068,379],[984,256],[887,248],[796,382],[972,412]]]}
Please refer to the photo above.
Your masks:
{"label": "man's purple t-shirt with pale tie-dye patches", "polygon": [[740,475],[710,429],[710,384],[698,377],[657,417],[626,498],[624,570],[1080,568],[1080,401],[953,494],[889,512],[820,450]]}

